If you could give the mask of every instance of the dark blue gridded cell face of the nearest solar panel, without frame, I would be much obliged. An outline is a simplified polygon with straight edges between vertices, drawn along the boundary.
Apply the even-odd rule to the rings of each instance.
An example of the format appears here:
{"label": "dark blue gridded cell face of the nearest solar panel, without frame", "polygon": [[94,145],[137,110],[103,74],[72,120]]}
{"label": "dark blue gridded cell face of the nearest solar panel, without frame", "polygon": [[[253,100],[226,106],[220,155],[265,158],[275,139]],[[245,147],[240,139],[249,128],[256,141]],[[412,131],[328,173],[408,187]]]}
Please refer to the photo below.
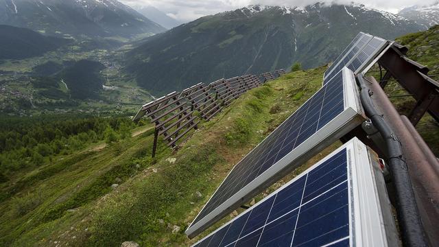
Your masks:
{"label": "dark blue gridded cell face of the nearest solar panel, without frame", "polygon": [[195,246],[349,246],[347,171],[344,148]]}

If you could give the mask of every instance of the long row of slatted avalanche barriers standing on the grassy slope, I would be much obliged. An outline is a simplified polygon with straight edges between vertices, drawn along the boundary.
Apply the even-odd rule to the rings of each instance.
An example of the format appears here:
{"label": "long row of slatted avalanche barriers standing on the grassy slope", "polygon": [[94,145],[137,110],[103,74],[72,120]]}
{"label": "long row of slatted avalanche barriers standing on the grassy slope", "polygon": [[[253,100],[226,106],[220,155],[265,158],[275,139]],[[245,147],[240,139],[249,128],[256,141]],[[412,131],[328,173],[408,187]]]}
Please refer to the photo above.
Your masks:
{"label": "long row of slatted avalanche barriers standing on the grassy slope", "polygon": [[[173,92],[154,99],[141,107],[133,121],[141,117],[150,118],[155,124],[152,157],[156,154],[158,137],[163,137],[169,147],[175,148],[185,142],[198,128],[202,119],[209,121],[222,108],[243,93],[285,74],[285,69],[257,75],[242,75],[220,79],[211,84],[202,82],[193,85],[181,93]],[[263,78],[260,80],[259,78]]]}

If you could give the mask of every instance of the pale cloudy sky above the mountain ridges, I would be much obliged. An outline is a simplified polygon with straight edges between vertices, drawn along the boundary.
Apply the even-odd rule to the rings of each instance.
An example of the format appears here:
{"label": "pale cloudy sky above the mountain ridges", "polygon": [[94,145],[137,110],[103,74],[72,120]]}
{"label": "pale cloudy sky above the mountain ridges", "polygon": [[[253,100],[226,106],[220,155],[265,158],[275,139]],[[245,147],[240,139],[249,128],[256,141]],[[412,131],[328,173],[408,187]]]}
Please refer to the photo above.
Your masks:
{"label": "pale cloudy sky above the mountain ridges", "polygon": [[[305,6],[316,3],[316,0],[119,0],[133,8],[152,5],[168,16],[181,22],[189,22],[209,14],[235,10],[246,5],[283,5]],[[332,3],[351,3],[352,0],[334,0]],[[431,5],[438,0],[364,0],[370,8],[396,13],[401,8],[411,5]],[[361,3],[361,2],[360,2]]]}

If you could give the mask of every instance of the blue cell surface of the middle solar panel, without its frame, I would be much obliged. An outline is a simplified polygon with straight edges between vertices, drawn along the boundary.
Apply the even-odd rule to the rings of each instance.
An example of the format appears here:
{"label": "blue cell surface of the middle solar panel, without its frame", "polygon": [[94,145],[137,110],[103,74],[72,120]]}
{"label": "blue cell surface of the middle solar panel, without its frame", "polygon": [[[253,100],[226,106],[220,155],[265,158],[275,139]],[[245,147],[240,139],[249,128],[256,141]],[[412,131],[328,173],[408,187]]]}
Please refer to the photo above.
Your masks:
{"label": "blue cell surface of the middle solar panel, without its frame", "polygon": [[286,154],[344,111],[343,73],[340,71],[313,97],[244,157],[226,177],[192,224],[263,174]]}

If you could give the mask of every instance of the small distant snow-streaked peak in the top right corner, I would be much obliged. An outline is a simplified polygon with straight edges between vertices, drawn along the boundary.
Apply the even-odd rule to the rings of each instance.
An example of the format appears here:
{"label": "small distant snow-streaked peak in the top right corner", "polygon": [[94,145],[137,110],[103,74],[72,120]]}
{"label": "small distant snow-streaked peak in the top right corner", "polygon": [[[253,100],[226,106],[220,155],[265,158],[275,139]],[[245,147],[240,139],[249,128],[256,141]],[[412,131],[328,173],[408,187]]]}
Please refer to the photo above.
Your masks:
{"label": "small distant snow-streaked peak in the top right corner", "polygon": [[433,5],[404,8],[398,13],[409,20],[428,28],[439,24],[439,1]]}

